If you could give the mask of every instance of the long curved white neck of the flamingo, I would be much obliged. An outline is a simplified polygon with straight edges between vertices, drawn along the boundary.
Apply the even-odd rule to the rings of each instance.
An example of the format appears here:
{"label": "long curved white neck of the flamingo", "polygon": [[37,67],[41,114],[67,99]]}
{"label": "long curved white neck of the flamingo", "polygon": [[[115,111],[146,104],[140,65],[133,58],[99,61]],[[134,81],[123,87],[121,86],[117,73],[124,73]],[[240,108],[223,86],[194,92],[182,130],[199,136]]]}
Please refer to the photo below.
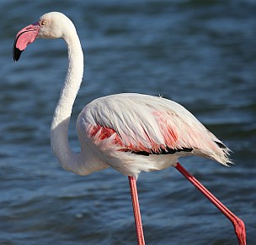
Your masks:
{"label": "long curved white neck of the flamingo", "polygon": [[75,154],[68,143],[68,125],[83,78],[83,50],[76,31],[64,39],[68,50],[68,68],[51,122],[51,149],[64,169],[75,172],[80,154]]}

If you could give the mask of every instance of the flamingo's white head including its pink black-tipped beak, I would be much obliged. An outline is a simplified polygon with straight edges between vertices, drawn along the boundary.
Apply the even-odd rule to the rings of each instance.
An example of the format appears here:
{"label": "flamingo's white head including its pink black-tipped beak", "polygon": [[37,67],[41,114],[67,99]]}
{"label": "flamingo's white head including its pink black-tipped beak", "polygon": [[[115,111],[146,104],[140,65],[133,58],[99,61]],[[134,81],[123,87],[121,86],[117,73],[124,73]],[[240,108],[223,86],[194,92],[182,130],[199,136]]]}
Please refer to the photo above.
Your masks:
{"label": "flamingo's white head including its pink black-tipped beak", "polygon": [[[67,27],[76,30],[72,21],[66,15],[59,12],[45,13],[40,19],[21,29],[16,35],[13,44],[13,60],[16,62],[23,50],[33,43],[35,39],[61,39],[67,34]],[[69,29],[69,30],[70,30]]]}

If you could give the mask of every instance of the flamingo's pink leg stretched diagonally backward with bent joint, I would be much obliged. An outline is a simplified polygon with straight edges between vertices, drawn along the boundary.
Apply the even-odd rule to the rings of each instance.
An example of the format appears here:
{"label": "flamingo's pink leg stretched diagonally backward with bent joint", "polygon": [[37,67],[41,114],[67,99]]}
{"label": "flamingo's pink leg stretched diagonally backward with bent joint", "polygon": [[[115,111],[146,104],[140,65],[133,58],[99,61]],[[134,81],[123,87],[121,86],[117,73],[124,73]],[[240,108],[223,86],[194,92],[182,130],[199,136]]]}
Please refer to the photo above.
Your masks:
{"label": "flamingo's pink leg stretched diagonally backward with bent joint", "polygon": [[227,207],[224,206],[221,201],[217,200],[216,197],[212,195],[204,185],[200,184],[200,182],[196,180],[193,175],[190,175],[189,172],[184,169],[181,164],[177,163],[176,169],[178,169],[182,175],[184,175],[193,185],[195,185],[195,187],[200,190],[200,192],[202,192],[205,197],[207,197],[225,216],[227,216],[227,218],[232,222],[234,226],[239,245],[246,245],[246,232],[243,221],[235,216],[232,211],[227,209]]}

